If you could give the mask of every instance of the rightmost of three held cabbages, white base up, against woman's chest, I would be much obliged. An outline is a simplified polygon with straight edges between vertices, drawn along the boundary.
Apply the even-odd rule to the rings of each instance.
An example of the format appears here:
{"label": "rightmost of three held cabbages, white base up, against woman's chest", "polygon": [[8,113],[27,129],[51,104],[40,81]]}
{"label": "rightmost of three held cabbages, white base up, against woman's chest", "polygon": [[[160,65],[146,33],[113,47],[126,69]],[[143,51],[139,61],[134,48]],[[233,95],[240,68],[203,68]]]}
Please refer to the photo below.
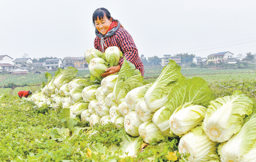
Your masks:
{"label": "rightmost of three held cabbages, white base up, against woman's chest", "polygon": [[123,53],[116,46],[108,47],[105,50],[105,58],[107,63],[110,64],[110,66],[117,66],[120,58],[122,57],[123,57]]}

